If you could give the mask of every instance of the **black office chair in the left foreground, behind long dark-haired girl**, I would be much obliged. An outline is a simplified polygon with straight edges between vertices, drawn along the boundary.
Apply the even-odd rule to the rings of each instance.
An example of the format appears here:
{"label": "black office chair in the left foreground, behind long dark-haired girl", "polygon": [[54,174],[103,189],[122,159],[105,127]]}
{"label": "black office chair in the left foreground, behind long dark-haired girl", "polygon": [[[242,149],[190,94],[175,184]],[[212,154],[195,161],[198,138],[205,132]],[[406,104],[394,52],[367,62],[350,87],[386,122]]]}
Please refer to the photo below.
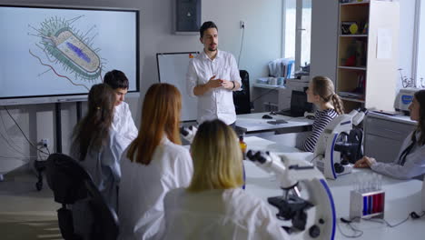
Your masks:
{"label": "black office chair in the left foreground, behind long dark-haired girl", "polygon": [[[116,239],[118,236],[118,217],[106,204],[92,177],[72,157],[64,154],[53,154],[46,163],[47,184],[54,192],[54,201],[62,204],[57,210],[57,218],[61,234],[68,239]],[[87,203],[90,211],[87,218],[93,219],[90,233],[78,235],[74,229],[72,206]]]}

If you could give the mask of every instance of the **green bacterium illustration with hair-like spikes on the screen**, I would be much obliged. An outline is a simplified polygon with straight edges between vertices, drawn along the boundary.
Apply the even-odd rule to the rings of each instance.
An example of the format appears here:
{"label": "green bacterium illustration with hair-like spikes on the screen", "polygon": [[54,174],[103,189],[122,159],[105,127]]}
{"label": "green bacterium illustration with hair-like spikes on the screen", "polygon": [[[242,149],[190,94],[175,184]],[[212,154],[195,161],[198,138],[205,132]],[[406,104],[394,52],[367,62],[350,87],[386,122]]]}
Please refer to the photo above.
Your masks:
{"label": "green bacterium illustration with hair-like spikes on the screen", "polygon": [[[93,47],[94,35],[90,32],[92,26],[85,34],[80,33],[74,26],[74,22],[83,17],[77,16],[73,19],[65,20],[57,16],[45,19],[39,28],[30,25],[40,37],[41,41],[36,44],[42,49],[47,59],[54,64],[61,64],[64,70],[74,75],[74,79],[80,79],[93,83],[96,79],[102,80],[103,63],[99,56],[100,49]],[[53,65],[45,64],[40,56],[33,54],[41,65],[50,67],[55,75],[67,78],[73,85],[77,85],[66,75],[59,75]],[[52,60],[53,59],[53,60]],[[88,89],[87,86],[84,85]]]}

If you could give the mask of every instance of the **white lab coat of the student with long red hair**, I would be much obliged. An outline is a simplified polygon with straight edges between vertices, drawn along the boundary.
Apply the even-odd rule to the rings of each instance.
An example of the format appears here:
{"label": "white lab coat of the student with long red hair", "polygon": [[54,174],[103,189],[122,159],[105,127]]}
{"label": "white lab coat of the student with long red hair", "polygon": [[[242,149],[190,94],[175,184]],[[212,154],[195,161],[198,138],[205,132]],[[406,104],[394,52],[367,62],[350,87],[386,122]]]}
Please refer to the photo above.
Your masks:
{"label": "white lab coat of the student with long red hair", "polygon": [[149,165],[121,160],[119,239],[160,239],[163,234],[163,197],[190,184],[193,163],[189,151],[164,137]]}

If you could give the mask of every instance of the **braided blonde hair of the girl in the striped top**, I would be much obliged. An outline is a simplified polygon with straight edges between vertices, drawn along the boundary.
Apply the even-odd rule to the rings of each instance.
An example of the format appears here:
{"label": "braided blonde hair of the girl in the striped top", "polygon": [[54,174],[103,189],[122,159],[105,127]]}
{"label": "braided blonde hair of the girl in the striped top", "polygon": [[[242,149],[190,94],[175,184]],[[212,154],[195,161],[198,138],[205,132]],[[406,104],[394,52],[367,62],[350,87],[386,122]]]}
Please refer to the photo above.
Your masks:
{"label": "braided blonde hair of the girl in the striped top", "polygon": [[335,94],[335,87],[331,78],[317,75],[312,78],[312,93],[319,95],[325,103],[331,102],[337,114],[344,114],[344,105],[339,95]]}

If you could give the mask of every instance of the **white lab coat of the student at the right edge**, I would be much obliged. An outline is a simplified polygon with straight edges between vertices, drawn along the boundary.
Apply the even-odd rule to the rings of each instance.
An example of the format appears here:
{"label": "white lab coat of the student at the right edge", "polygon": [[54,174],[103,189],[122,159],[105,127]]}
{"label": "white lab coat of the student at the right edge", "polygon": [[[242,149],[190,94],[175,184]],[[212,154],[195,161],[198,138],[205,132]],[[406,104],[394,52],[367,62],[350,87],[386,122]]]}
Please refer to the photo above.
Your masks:
{"label": "white lab coat of the student at the right edge", "polygon": [[[413,133],[410,133],[410,135],[404,139],[403,145],[401,145],[400,148],[400,153],[393,163],[376,162],[371,165],[371,169],[382,175],[389,175],[399,179],[410,179],[425,174],[425,145],[418,145],[418,142],[413,146],[410,154],[406,156],[404,165],[397,164],[401,153],[411,144],[412,134]],[[420,133],[417,133],[416,139],[419,139],[419,137]]]}

